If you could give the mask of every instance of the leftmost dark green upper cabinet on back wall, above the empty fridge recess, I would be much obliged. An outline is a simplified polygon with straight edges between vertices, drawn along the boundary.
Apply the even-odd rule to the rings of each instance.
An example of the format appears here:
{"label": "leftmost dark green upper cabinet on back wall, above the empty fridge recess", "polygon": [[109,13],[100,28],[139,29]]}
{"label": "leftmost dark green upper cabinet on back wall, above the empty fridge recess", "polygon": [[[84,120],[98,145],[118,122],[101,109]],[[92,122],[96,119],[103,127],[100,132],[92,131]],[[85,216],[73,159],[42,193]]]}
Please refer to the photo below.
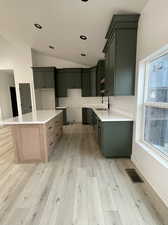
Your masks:
{"label": "leftmost dark green upper cabinet on back wall, above the empty fridge recess", "polygon": [[55,88],[55,67],[33,67],[35,89]]}

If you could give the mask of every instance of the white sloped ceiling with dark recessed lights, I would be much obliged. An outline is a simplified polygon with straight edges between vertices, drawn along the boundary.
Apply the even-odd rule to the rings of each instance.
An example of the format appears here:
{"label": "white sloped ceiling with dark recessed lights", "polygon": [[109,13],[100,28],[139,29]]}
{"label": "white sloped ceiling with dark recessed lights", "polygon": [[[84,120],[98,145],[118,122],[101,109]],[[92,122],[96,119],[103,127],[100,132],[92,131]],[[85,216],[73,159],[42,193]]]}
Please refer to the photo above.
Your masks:
{"label": "white sloped ceiling with dark recessed lights", "polygon": [[[0,0],[0,33],[38,51],[85,65],[103,58],[114,13],[139,13],[147,0]],[[34,23],[43,26],[36,30]],[[82,41],[79,36],[88,36]],[[55,50],[48,48],[55,46]],[[80,53],[87,53],[81,57]]]}

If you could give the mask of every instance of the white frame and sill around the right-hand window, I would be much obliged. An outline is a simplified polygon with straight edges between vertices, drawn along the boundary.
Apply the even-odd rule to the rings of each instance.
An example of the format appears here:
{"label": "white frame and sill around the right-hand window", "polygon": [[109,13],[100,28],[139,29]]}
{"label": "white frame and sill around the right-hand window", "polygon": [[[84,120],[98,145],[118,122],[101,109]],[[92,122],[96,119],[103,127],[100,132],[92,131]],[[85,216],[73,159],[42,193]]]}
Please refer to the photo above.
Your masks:
{"label": "white frame and sill around the right-hand window", "polygon": [[[138,79],[138,98],[137,98],[137,125],[136,125],[136,142],[145,145],[148,149],[152,150],[155,154],[163,157],[168,160],[168,154],[160,151],[158,148],[154,147],[149,142],[144,139],[145,132],[145,107],[156,107],[168,109],[168,103],[163,102],[149,102],[147,101],[148,94],[148,81],[149,81],[149,64],[168,54],[168,45],[147,57],[145,60],[142,60],[139,64],[139,79]],[[142,68],[142,69],[141,69]],[[143,87],[143,88],[142,88]],[[139,112],[140,110],[140,112]],[[140,129],[140,131],[138,130]]]}

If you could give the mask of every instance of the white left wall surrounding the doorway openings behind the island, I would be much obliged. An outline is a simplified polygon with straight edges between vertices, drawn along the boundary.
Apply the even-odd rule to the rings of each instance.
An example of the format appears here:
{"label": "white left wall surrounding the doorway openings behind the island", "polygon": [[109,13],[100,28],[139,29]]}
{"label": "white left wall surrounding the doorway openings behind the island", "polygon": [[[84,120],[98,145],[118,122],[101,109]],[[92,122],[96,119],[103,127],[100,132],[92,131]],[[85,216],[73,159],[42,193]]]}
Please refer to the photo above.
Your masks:
{"label": "white left wall surrounding the doorway openings behind the island", "polygon": [[0,70],[13,70],[15,78],[18,113],[21,115],[19,83],[30,83],[32,108],[35,110],[35,94],[32,72],[31,48],[23,43],[11,43],[0,36]]}

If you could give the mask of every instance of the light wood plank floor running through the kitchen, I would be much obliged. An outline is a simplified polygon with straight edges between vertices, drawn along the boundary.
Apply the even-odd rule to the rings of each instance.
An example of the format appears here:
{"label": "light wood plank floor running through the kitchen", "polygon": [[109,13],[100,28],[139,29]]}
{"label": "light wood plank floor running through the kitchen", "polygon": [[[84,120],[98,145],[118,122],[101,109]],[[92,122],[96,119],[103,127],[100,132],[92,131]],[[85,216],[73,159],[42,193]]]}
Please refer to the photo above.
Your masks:
{"label": "light wood plank floor running through the kitchen", "polygon": [[92,128],[72,125],[38,165],[0,167],[0,225],[162,225],[128,159],[105,159]]}

